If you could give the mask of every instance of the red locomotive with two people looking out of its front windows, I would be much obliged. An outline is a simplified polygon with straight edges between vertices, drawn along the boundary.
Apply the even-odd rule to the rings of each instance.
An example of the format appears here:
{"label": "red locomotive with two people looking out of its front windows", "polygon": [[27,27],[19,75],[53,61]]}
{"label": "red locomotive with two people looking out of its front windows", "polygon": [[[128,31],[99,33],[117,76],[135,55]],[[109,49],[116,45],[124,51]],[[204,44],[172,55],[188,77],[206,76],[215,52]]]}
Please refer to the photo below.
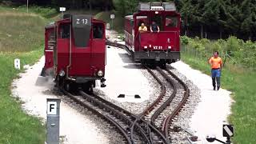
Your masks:
{"label": "red locomotive with two people looking out of its front windows", "polygon": [[[160,31],[151,32],[150,26],[155,22]],[[172,2],[141,2],[138,12],[125,18],[126,49],[134,58],[143,64],[166,63],[180,59],[180,14]],[[138,28],[144,23],[146,32]]]}

